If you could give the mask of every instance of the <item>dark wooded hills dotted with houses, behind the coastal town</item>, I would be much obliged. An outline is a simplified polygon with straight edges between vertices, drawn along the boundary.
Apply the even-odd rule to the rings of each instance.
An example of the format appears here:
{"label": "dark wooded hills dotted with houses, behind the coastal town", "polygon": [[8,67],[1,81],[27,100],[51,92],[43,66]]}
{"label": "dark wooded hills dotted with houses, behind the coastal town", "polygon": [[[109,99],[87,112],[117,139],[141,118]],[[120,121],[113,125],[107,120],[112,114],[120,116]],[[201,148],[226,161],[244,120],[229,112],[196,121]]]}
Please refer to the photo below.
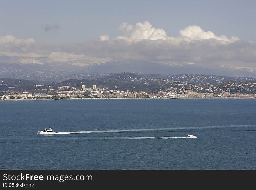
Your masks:
{"label": "dark wooded hills dotted with houses, behind the coastal town", "polygon": [[[243,77],[224,77],[224,76],[215,76],[215,75],[205,75],[205,74],[196,74],[196,75],[151,75],[151,74],[138,74],[138,73],[119,73],[119,74],[94,74],[87,75],[92,79],[69,79],[61,82],[37,82],[29,81],[22,79],[10,79],[2,78],[0,79],[0,91],[30,91],[30,92],[41,92],[49,89],[58,89],[64,85],[70,87],[81,88],[82,85],[86,87],[92,87],[96,85],[98,88],[108,88],[108,89],[118,89],[118,90],[132,90],[132,91],[157,91],[159,89],[166,89],[175,87],[177,90],[185,89],[189,86],[193,86],[193,89],[198,89],[198,85],[208,88],[210,85],[219,86],[219,88],[228,88],[229,92],[254,92],[253,81],[255,78]],[[99,77],[96,78],[95,77]],[[231,82],[230,82],[231,81]],[[233,84],[234,83],[234,84]],[[244,84],[249,84],[251,89],[244,87]],[[252,84],[251,84],[252,83]],[[178,85],[179,84],[179,85]],[[241,84],[243,84],[241,86]],[[226,86],[227,85],[227,86]],[[239,86],[240,85],[240,86]],[[225,88],[224,88],[225,87]],[[248,91],[249,90],[249,91]]]}

